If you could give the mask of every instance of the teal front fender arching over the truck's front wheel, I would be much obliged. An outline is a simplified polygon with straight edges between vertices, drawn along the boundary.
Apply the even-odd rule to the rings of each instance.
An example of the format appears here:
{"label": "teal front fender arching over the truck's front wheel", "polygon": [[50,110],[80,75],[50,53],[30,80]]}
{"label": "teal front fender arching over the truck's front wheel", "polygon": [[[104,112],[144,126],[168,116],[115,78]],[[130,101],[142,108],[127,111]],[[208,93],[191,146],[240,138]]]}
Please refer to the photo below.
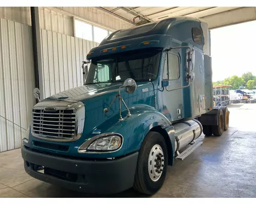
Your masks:
{"label": "teal front fender arching over the truck's front wheel", "polygon": [[[173,164],[175,154],[175,134],[172,123],[153,107],[140,106],[130,109],[131,116],[125,117],[123,121],[117,121],[108,132],[120,133],[123,138],[122,148],[117,151],[118,155],[126,155],[138,151],[147,133],[151,130],[160,132],[165,140],[170,154],[169,164]],[[117,154],[113,152],[113,154]],[[113,156],[114,157],[114,156]]]}

